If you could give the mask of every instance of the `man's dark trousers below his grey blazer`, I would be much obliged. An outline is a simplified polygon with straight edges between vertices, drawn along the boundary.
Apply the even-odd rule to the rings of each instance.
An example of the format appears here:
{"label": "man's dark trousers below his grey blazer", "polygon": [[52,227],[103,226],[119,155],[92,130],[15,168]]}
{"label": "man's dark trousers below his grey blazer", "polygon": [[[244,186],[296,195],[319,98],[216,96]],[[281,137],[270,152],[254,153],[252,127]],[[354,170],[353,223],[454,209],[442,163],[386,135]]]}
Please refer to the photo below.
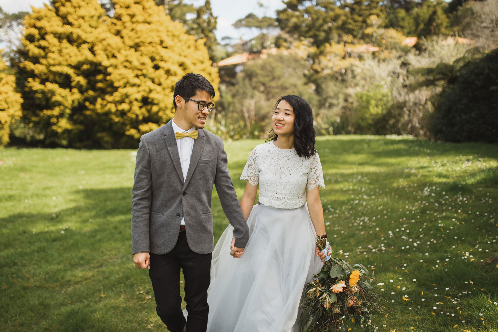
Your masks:
{"label": "man's dark trousers below his grey blazer", "polygon": [[179,332],[186,320],[181,310],[180,268],[185,279],[187,332],[206,332],[208,327],[208,287],[212,254],[197,254],[180,232],[173,250],[163,255],[150,253],[149,277],[154,289],[157,316],[171,332]]}

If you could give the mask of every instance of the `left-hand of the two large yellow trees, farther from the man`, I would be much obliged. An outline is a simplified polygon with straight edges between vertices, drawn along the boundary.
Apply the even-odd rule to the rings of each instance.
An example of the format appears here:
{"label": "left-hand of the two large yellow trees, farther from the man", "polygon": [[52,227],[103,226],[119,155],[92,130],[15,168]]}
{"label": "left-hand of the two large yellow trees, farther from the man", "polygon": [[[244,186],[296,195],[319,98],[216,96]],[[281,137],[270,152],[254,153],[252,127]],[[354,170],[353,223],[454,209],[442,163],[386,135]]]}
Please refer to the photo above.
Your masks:
{"label": "left-hand of the two large yellow trees, farther from the man", "polygon": [[85,102],[105,77],[93,50],[105,31],[103,13],[95,0],[53,0],[25,17],[17,67],[27,140],[76,145],[86,129]]}

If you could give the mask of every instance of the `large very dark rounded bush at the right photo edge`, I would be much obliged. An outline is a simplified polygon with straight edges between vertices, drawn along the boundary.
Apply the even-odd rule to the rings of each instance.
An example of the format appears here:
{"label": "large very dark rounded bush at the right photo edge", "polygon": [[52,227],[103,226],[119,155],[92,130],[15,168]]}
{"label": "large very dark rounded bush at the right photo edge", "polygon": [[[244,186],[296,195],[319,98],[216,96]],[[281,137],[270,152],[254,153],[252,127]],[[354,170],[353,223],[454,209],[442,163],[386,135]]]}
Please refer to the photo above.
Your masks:
{"label": "large very dark rounded bush at the right photo edge", "polygon": [[436,139],[498,143],[498,49],[460,68],[438,104],[432,121]]}

